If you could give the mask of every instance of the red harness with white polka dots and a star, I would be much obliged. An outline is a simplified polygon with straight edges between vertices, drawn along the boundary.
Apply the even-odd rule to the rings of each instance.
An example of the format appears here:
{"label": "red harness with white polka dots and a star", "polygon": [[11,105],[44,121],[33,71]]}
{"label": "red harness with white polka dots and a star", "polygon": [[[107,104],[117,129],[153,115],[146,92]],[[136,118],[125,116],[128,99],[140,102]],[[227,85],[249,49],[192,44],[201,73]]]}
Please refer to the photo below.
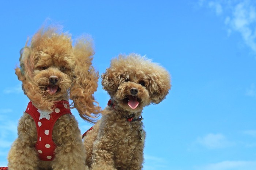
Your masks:
{"label": "red harness with white polka dots and a star", "polygon": [[42,161],[52,161],[56,145],[52,140],[53,126],[57,119],[64,114],[71,114],[69,103],[61,100],[54,104],[54,110],[40,110],[32,102],[27,105],[26,113],[35,121],[37,126],[37,143],[35,149],[39,159]]}

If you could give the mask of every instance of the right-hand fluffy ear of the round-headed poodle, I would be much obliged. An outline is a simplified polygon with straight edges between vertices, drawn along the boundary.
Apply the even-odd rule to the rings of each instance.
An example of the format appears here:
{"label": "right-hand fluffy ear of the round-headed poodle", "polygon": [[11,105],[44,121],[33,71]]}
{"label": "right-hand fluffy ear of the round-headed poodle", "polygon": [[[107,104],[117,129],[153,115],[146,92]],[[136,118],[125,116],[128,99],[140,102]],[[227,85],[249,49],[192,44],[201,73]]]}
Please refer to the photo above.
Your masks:
{"label": "right-hand fluffy ear of the round-headed poodle", "polygon": [[171,88],[169,73],[160,66],[154,67],[154,74],[148,75],[148,89],[153,103],[158,104]]}

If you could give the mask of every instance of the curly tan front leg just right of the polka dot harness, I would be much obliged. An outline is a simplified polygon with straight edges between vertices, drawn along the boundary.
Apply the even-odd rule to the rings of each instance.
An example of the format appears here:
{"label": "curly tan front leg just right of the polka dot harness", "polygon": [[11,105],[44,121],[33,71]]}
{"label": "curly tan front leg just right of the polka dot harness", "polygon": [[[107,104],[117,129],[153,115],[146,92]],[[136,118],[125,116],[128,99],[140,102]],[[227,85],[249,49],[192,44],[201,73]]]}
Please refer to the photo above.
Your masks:
{"label": "curly tan front leg just right of the polka dot harness", "polygon": [[[54,130],[55,129],[55,130]],[[53,129],[57,147],[53,159],[53,170],[88,170],[85,165],[85,148],[82,142],[78,122],[72,115],[61,116]]]}

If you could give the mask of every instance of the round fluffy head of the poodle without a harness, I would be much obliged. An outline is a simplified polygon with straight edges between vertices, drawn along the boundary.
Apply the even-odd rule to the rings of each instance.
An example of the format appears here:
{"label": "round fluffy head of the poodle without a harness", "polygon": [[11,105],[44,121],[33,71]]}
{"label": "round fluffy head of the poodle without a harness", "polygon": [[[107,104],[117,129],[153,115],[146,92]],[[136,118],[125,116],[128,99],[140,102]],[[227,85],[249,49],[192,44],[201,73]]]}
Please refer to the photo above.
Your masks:
{"label": "round fluffy head of the poodle without a harness", "polygon": [[163,67],[137,54],[113,59],[101,79],[115,104],[129,112],[160,103],[171,87],[170,75]]}

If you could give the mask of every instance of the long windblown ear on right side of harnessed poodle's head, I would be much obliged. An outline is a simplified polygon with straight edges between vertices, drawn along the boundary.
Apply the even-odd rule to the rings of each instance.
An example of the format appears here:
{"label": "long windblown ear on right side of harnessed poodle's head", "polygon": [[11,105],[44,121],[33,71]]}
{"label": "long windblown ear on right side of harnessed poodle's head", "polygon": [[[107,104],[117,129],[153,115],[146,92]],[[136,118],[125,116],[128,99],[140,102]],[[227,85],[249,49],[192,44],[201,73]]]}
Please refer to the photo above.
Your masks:
{"label": "long windblown ear on right side of harnessed poodle's head", "polygon": [[94,99],[99,75],[91,63],[94,55],[91,46],[90,41],[82,38],[76,42],[73,49],[76,66],[73,71],[74,82],[70,89],[70,99],[73,100],[74,107],[78,110],[81,118],[93,123],[93,118],[97,118],[101,108]]}

